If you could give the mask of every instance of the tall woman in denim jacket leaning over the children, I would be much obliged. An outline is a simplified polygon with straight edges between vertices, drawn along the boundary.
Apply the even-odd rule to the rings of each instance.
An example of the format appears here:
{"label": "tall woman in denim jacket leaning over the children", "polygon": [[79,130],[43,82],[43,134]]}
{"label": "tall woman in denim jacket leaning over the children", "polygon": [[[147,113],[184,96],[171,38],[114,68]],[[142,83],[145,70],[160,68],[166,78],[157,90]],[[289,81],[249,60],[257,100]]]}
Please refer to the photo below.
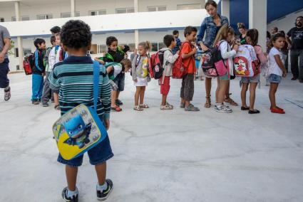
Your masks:
{"label": "tall woman in denim jacket leaning over the children", "polygon": [[[212,48],[215,38],[217,36],[217,31],[220,30],[221,26],[225,23],[229,23],[227,17],[220,16],[217,14],[217,3],[215,1],[209,0],[205,4],[205,9],[210,15],[202,21],[199,33],[197,34],[197,43],[201,46],[203,51],[207,51]],[[205,36],[204,41],[203,38]],[[204,107],[210,108],[210,90],[212,88],[212,78],[205,76],[205,91],[206,91],[206,102]],[[225,102],[229,102],[232,105],[237,105],[235,101],[230,98],[230,92],[227,90],[225,95]]]}

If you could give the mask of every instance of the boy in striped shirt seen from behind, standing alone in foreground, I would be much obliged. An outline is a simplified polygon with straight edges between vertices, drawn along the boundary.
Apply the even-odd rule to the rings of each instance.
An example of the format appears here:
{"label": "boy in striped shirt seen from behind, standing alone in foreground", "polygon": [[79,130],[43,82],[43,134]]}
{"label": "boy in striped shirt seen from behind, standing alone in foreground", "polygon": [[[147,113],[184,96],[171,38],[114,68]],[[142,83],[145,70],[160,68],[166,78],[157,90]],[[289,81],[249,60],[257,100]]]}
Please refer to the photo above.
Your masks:
{"label": "boy in striped shirt seen from behind, standing alone in foreground", "polygon": [[[83,21],[68,21],[61,29],[61,43],[68,52],[68,58],[56,63],[49,76],[50,87],[59,89],[61,115],[77,105],[93,107],[93,61],[86,56],[91,48],[91,28]],[[106,126],[110,125],[111,86],[106,68],[100,68],[97,113]],[[88,151],[90,163],[95,166],[98,176],[97,198],[105,200],[113,189],[113,182],[106,179],[106,161],[113,152],[108,136],[103,142]],[[59,154],[58,161],[66,164],[68,186],[62,191],[64,201],[78,201],[76,179],[78,166],[81,166],[83,155],[66,160]]]}

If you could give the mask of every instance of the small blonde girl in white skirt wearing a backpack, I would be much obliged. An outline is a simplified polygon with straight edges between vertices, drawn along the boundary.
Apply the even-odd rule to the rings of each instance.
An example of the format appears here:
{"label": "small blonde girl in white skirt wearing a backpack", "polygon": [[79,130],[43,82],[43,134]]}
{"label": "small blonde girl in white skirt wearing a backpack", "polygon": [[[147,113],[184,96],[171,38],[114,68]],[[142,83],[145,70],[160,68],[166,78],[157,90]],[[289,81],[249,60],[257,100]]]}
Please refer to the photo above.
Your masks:
{"label": "small blonde girl in white skirt wearing a backpack", "polygon": [[[145,87],[150,81],[148,75],[148,65],[150,58],[148,57],[148,50],[151,48],[149,41],[141,42],[138,46],[138,55],[133,58],[133,65],[131,68],[133,84],[135,85],[135,106],[133,110],[143,111],[143,108],[149,108],[144,104]],[[139,105],[140,99],[140,105]]]}

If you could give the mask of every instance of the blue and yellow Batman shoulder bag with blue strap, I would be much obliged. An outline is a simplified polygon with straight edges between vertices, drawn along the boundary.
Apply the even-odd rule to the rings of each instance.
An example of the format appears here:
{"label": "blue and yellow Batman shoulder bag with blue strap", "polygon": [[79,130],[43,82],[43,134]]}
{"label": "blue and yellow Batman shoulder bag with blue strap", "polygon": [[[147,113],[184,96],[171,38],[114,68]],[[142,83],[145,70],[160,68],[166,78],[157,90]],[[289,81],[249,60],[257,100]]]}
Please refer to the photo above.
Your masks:
{"label": "blue and yellow Batman shoulder bag with blue strap", "polygon": [[63,159],[70,160],[95,147],[108,135],[96,112],[100,65],[93,61],[93,108],[78,105],[53,124],[53,136]]}

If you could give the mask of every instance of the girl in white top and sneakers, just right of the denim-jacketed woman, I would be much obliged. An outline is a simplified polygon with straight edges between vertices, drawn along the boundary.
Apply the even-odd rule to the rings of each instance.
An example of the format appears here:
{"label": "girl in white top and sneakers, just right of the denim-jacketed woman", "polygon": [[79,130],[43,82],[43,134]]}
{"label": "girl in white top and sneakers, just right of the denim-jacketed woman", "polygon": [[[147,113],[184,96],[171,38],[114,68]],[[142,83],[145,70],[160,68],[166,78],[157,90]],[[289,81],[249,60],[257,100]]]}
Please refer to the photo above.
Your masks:
{"label": "girl in white top and sneakers, just right of the denim-jacketed woman", "polygon": [[227,73],[217,78],[217,90],[216,90],[216,104],[215,111],[216,112],[225,112],[230,113],[232,109],[228,105],[224,104],[225,92],[227,92],[229,83],[230,83],[230,75],[233,75],[233,61],[232,57],[234,57],[237,53],[237,49],[239,48],[239,44],[235,43],[235,45],[230,47],[230,42],[235,38],[235,31],[232,27],[227,26],[227,24],[223,25],[217,33],[217,37],[215,38],[214,46],[219,46],[222,58],[225,59],[225,65],[227,65]]}

